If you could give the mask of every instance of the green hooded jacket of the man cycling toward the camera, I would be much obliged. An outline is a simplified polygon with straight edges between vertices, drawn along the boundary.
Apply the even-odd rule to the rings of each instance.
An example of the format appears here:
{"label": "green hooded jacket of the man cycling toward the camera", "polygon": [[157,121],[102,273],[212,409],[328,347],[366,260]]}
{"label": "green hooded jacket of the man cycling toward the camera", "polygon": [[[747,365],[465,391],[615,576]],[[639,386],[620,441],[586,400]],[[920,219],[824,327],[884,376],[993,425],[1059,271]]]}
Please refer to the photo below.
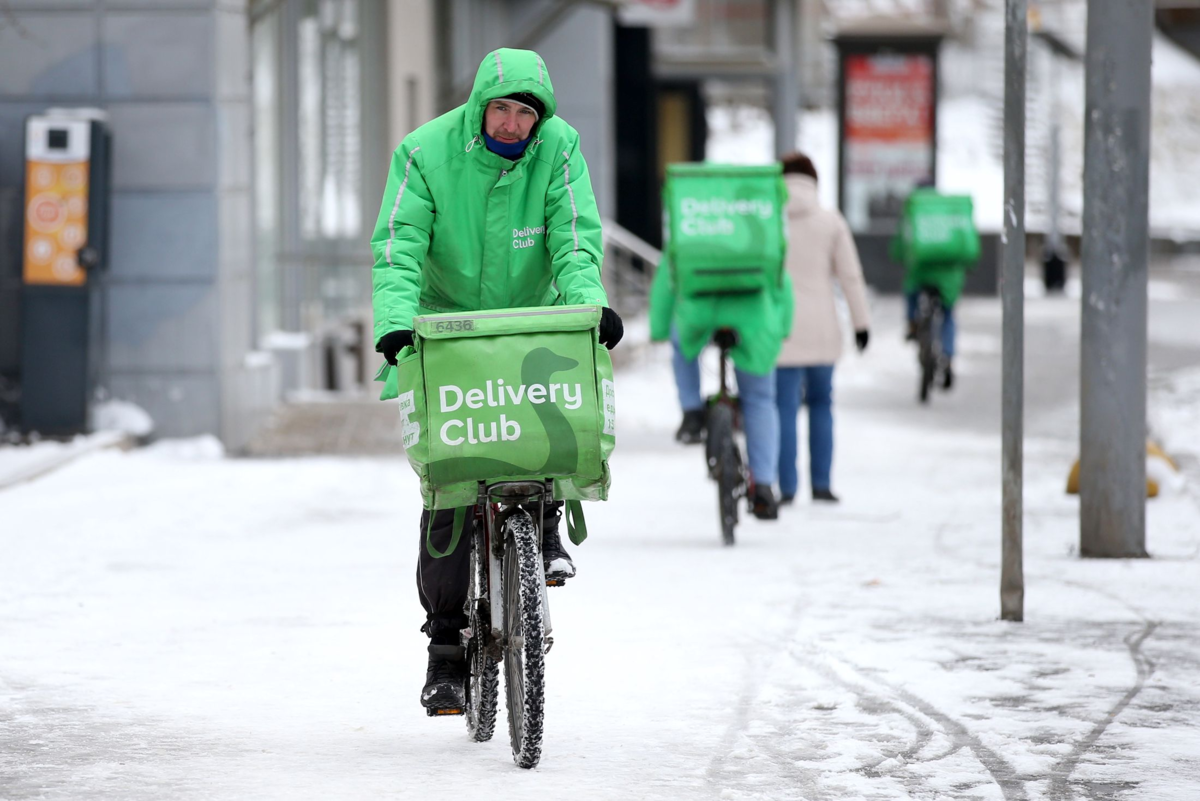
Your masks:
{"label": "green hooded jacket of the man cycling toward the camera", "polygon": [[[484,144],[484,108],[515,92],[545,114],[517,161]],[[580,135],[554,116],[546,65],[499,49],[479,65],[466,104],[404,138],[392,153],[371,236],[374,339],[418,314],[594,303],[604,245]]]}

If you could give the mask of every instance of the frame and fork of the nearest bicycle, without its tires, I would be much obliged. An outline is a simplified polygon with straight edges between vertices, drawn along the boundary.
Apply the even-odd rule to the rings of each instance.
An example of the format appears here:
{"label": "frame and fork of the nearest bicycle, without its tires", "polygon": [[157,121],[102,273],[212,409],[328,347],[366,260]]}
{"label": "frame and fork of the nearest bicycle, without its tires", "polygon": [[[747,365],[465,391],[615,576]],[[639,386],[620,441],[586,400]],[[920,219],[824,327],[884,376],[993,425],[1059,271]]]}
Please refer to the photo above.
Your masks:
{"label": "frame and fork of the nearest bicycle, without its tires", "polygon": [[[541,548],[542,514],[547,502],[554,498],[554,487],[551,480],[546,481],[500,481],[491,484],[479,484],[479,500],[476,505],[484,510],[482,542],[487,553],[487,598],[491,610],[491,640],[500,648],[508,648],[508,632],[504,630],[504,598],[500,571],[504,562],[504,538],[500,532],[504,530],[504,522],[523,505],[536,504],[538,514],[534,524],[538,529]],[[545,582],[539,583],[541,596],[541,610],[546,626],[546,651],[553,645],[550,622],[550,602],[546,596]]]}

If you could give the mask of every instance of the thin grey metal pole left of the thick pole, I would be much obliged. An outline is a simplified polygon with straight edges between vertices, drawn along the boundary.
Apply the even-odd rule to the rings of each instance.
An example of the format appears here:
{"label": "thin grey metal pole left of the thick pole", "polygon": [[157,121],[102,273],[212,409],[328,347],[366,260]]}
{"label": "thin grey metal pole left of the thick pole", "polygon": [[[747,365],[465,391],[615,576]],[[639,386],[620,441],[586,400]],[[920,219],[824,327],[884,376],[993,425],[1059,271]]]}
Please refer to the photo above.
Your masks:
{"label": "thin grey metal pole left of the thick pole", "polygon": [[1004,230],[1003,297],[1003,544],[1000,616],[1025,619],[1025,71],[1026,0],[1007,0],[1004,25]]}

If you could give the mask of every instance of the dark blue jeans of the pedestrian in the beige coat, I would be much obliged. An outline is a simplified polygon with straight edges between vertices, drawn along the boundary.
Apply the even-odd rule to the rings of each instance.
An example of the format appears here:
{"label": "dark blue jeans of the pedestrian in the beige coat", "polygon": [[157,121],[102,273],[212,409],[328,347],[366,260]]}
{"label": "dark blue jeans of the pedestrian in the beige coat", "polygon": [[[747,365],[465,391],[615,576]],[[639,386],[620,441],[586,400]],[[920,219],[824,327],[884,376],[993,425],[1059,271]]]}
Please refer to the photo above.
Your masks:
{"label": "dark blue jeans of the pedestrian in the beige coat", "polygon": [[812,489],[829,489],[833,466],[833,365],[776,367],[779,404],[779,492],[796,495],[800,476],[796,469],[796,418],[800,403],[809,408],[809,477]]}

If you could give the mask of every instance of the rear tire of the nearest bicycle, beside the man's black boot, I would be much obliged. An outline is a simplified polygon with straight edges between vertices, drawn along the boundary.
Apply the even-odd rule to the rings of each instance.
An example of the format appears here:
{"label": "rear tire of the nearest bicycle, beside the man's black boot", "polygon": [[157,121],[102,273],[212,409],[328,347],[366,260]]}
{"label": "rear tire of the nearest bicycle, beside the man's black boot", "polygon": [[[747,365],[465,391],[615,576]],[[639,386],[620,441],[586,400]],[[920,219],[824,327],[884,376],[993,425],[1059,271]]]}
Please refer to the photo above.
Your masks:
{"label": "rear tire of the nearest bicycle, beside the man's black boot", "polygon": [[470,588],[467,595],[467,736],[473,742],[487,742],[496,733],[496,712],[500,695],[500,666],[488,649],[492,628],[491,601],[487,597],[487,560],[481,558],[484,537],[476,536],[470,549]]}

